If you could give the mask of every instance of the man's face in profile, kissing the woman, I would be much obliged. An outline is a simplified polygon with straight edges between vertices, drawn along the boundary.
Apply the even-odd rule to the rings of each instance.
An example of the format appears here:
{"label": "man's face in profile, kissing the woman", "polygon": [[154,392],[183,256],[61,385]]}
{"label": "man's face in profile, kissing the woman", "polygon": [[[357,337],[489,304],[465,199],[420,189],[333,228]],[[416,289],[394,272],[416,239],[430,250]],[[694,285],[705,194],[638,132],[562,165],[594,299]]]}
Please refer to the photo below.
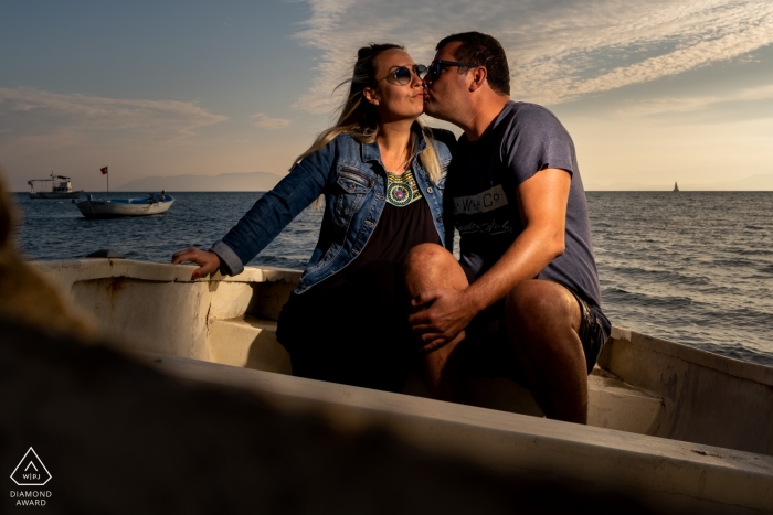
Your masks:
{"label": "man's face in profile, kissing the woman", "polygon": [[[435,54],[435,61],[457,61],[454,52],[462,45],[460,41],[452,41]],[[459,74],[457,66],[441,69],[440,75],[427,75],[424,78],[424,112],[441,120],[455,121],[465,103],[469,101],[470,74]]]}

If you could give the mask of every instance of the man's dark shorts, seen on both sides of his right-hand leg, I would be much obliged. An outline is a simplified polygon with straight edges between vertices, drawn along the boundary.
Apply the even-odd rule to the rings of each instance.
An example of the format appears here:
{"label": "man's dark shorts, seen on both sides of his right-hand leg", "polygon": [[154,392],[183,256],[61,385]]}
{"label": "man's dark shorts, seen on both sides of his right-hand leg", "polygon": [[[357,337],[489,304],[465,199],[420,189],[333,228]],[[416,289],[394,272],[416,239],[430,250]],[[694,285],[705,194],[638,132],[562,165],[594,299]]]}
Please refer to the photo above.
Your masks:
{"label": "man's dark shorts, seen on both sides of his right-hand leg", "polygon": [[[601,356],[608,334],[604,331],[596,310],[569,288],[566,291],[572,293],[580,307],[581,320],[578,335],[585,353],[585,365],[590,374]],[[515,348],[507,339],[504,299],[473,320],[467,328],[465,348],[460,351],[464,363],[469,366],[468,372],[484,377],[508,377],[526,385],[523,369],[516,357]]]}

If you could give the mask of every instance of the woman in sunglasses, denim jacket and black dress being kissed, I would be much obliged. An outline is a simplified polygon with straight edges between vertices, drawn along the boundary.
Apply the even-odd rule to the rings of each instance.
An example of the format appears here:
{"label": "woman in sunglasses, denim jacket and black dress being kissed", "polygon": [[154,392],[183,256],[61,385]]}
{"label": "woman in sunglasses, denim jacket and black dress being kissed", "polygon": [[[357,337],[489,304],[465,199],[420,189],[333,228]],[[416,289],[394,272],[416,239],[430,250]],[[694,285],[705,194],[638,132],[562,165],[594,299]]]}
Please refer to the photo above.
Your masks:
{"label": "woman in sunglasses, denim jacket and black dress being kissed", "polygon": [[199,265],[193,278],[240,273],[324,195],[319,240],[277,328],[294,375],[398,390],[416,358],[400,265],[415,245],[453,240],[442,193],[455,139],[417,121],[424,73],[402,46],[360,49],[338,122],[210,251],[172,256]]}

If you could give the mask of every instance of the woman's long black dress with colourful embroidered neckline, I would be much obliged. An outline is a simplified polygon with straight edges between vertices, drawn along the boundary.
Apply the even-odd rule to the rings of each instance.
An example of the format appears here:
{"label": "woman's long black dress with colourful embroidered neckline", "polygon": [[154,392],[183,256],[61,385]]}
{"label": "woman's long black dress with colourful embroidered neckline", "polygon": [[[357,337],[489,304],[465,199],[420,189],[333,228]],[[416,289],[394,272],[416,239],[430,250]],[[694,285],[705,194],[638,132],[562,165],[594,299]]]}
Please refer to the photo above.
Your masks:
{"label": "woman's long black dress with colourful embroidered neckline", "polygon": [[386,174],[386,203],[368,244],[347,267],[279,314],[277,339],[293,375],[398,391],[417,357],[407,324],[402,262],[423,243],[441,245],[426,200],[409,171]]}

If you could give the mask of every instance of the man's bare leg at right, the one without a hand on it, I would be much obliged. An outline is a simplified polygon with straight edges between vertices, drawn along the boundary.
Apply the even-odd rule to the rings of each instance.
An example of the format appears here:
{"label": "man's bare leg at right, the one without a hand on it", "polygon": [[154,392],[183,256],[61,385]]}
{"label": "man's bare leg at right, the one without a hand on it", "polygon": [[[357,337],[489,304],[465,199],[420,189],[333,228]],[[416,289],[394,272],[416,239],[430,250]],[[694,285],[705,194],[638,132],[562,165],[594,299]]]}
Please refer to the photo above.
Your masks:
{"label": "man's bare leg at right, the one without a hand on it", "polygon": [[534,279],[515,287],[505,309],[508,337],[542,411],[587,423],[587,367],[576,299],[555,282]]}

